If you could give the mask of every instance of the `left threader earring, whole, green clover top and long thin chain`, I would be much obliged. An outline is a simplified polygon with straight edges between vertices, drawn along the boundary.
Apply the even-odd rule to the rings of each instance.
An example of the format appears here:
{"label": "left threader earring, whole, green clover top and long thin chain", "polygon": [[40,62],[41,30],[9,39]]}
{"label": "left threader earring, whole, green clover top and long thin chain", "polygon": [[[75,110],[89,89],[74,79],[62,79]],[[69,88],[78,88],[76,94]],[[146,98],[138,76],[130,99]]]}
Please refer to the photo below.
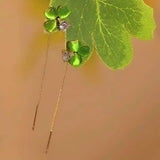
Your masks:
{"label": "left threader earring, whole, green clover top and long thin chain", "polygon": [[63,31],[63,32],[67,31],[67,29],[70,27],[70,24],[67,21],[65,21],[64,19],[66,19],[70,15],[70,13],[71,13],[70,10],[68,10],[68,8],[66,6],[58,6],[57,8],[50,7],[45,12],[46,21],[44,23],[44,28],[49,33],[49,36],[48,36],[47,50],[46,50],[46,54],[45,54],[45,63],[44,63],[40,91],[39,91],[39,98],[38,98],[38,102],[37,102],[36,109],[35,109],[32,130],[35,129],[38,110],[39,110],[39,106],[40,106],[41,99],[42,99],[44,79],[45,79],[45,74],[46,74],[46,67],[47,67],[47,63],[48,63],[48,54],[49,54],[51,33],[56,32],[56,31]]}

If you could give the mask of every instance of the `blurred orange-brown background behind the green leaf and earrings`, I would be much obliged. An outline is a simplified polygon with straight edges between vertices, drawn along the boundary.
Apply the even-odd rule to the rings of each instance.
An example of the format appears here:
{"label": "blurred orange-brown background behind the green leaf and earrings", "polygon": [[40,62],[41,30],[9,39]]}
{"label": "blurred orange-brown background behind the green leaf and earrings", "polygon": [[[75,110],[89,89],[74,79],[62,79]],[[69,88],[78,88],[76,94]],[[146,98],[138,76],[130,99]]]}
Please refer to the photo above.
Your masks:
{"label": "blurred orange-brown background behind the green leaf and earrings", "polygon": [[0,1],[0,160],[159,160],[160,1],[154,39],[133,39],[134,59],[111,71],[93,54],[81,69],[69,67],[54,139],[44,154],[64,63],[64,34],[50,45],[35,132],[47,34],[48,0]]}

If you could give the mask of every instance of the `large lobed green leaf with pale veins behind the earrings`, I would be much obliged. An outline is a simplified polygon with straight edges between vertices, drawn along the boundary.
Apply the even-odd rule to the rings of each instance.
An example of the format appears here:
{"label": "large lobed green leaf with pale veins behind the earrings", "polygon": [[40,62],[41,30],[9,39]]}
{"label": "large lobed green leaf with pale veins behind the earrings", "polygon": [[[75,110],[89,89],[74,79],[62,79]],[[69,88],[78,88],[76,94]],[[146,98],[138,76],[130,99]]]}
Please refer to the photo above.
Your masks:
{"label": "large lobed green leaf with pale veins behind the earrings", "polygon": [[50,6],[62,4],[71,10],[67,41],[79,40],[95,47],[111,69],[122,69],[131,62],[132,36],[153,37],[153,9],[142,0],[51,0]]}

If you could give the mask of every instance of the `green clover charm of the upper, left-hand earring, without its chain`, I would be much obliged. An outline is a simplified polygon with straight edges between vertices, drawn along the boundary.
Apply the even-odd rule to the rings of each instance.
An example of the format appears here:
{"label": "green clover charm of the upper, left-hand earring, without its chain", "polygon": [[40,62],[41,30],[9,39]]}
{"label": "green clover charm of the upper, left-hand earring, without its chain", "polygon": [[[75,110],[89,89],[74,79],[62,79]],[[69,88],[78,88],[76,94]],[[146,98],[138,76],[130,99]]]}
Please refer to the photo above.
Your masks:
{"label": "green clover charm of the upper, left-hand earring, without its chain", "polygon": [[47,32],[53,32],[61,30],[65,32],[70,24],[64,19],[70,15],[71,11],[66,6],[50,7],[46,12],[45,16],[47,21],[44,23],[44,28]]}

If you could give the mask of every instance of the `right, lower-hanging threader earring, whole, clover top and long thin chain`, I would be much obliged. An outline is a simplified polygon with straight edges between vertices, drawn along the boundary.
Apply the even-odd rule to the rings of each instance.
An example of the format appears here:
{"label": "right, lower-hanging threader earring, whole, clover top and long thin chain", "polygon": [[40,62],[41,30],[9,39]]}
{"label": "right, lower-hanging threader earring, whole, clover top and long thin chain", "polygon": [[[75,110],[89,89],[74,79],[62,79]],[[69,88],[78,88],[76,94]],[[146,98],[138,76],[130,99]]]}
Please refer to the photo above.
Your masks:
{"label": "right, lower-hanging threader earring, whole, clover top and long thin chain", "polygon": [[81,42],[78,40],[68,41],[66,44],[66,50],[62,51],[62,59],[66,63],[65,71],[64,71],[64,76],[62,79],[62,85],[59,90],[55,111],[53,113],[50,133],[49,133],[47,147],[46,147],[46,153],[48,152],[48,149],[50,146],[52,134],[53,134],[54,127],[55,127],[56,117],[57,117],[58,109],[60,106],[60,101],[62,99],[62,93],[63,93],[64,83],[65,83],[65,79],[67,75],[68,64],[71,64],[73,67],[78,67],[81,65],[82,59],[88,56],[89,54],[90,54],[90,48],[86,45],[82,45]]}

